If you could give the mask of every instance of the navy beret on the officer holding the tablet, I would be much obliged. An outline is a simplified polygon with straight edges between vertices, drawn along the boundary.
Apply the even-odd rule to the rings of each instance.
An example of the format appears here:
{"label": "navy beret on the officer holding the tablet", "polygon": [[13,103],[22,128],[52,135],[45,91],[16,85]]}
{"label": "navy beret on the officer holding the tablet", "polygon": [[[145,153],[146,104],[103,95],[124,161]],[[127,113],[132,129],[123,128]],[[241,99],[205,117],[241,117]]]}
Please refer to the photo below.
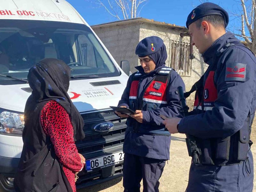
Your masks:
{"label": "navy beret on the officer holding the tablet", "polygon": [[146,37],[139,42],[136,47],[135,54],[139,57],[145,57],[156,53],[163,46],[164,41],[157,36]]}

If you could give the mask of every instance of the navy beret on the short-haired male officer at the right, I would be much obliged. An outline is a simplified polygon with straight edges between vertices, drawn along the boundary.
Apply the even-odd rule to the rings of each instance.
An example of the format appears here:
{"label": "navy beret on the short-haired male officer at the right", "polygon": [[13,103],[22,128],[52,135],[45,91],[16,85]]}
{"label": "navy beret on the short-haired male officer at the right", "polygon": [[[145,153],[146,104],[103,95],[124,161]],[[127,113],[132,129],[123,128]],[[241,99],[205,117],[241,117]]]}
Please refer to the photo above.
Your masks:
{"label": "navy beret on the short-haired male officer at the right", "polygon": [[195,9],[193,9],[193,11],[191,11],[191,13],[189,13],[186,22],[187,28],[191,23],[207,15],[222,16],[224,18],[225,28],[228,26],[228,13],[224,9],[214,3],[203,3],[198,5]]}

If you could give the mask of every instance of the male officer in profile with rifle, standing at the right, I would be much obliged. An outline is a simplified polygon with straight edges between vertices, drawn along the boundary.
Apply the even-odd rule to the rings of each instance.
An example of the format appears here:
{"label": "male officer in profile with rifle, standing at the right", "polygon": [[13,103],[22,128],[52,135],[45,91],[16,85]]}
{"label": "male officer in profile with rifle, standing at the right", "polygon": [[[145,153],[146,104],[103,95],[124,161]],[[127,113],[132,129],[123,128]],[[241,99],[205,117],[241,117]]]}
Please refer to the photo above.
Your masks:
{"label": "male officer in profile with rifle, standing at the right", "polygon": [[255,55],[226,32],[228,13],[203,3],[187,18],[192,44],[208,69],[193,86],[194,110],[164,121],[170,133],[196,138],[199,165],[191,164],[187,192],[253,190],[251,125],[256,105]]}

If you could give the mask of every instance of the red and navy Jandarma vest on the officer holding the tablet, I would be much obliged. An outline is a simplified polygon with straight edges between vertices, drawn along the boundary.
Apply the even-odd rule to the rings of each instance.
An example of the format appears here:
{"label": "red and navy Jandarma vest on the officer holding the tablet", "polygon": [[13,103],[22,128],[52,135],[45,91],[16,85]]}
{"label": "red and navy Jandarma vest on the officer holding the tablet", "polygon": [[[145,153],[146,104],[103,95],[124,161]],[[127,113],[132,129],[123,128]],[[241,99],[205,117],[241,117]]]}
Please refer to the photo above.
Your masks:
{"label": "red and navy Jandarma vest on the officer holding the tablet", "polygon": [[[137,96],[139,80],[142,74],[139,71],[135,73],[131,82],[129,108],[134,111],[151,111],[166,107],[168,105],[166,100],[166,88],[168,86],[172,70],[173,69],[170,67],[162,68],[143,90],[140,98]],[[143,133],[146,135],[170,135],[169,131],[165,129],[164,125],[139,123],[133,118],[127,119],[127,125],[132,127],[135,133]]]}

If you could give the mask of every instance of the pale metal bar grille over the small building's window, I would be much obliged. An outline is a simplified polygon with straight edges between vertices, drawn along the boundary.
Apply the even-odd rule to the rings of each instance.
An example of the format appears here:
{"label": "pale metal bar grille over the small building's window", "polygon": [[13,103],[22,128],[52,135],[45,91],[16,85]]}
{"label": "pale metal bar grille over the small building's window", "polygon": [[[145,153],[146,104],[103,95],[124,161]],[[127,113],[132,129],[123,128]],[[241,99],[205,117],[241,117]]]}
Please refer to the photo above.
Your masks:
{"label": "pale metal bar grille over the small building's window", "polygon": [[192,60],[189,59],[190,43],[170,40],[169,66],[179,75],[191,76]]}

